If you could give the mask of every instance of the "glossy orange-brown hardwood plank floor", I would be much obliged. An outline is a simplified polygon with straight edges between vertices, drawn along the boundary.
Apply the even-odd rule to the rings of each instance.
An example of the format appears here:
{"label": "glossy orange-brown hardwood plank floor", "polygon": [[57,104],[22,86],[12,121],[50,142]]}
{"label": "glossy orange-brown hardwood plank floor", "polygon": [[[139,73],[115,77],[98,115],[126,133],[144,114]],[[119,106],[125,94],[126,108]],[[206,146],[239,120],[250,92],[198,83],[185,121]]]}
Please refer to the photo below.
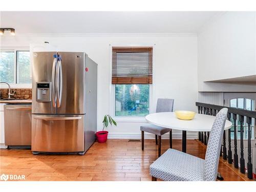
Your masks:
{"label": "glossy orange-brown hardwood plank floor", "polygon": [[[155,140],[141,142],[109,139],[95,142],[83,155],[32,155],[30,150],[0,150],[0,175],[25,175],[26,181],[151,181],[149,166],[158,157]],[[181,140],[173,140],[173,148],[181,151]],[[169,141],[162,140],[162,154]],[[187,140],[187,153],[204,158],[206,147],[196,140]],[[234,168],[233,168],[234,169]],[[220,160],[219,172],[225,181],[246,178]]]}

